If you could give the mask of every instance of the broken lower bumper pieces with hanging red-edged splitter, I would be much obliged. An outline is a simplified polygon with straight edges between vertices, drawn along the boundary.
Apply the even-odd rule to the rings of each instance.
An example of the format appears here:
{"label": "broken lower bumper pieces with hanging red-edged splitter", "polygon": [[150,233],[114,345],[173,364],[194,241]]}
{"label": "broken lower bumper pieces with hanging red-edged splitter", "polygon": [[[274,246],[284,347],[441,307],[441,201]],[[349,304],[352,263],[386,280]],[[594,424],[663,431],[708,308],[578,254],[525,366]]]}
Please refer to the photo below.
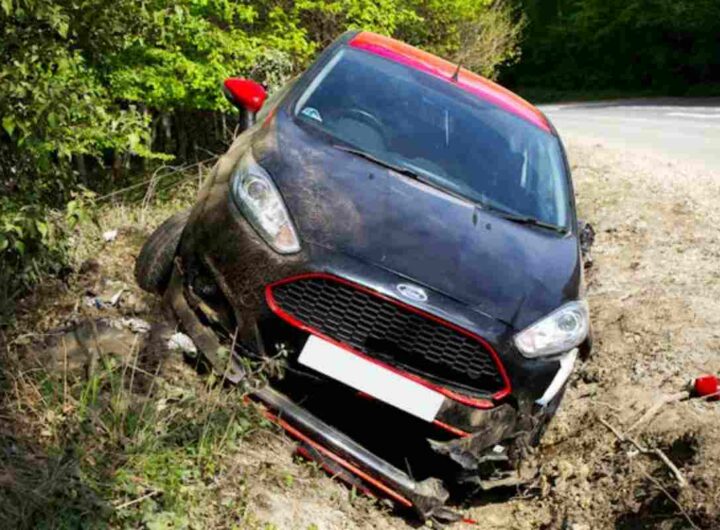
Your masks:
{"label": "broken lower bumper pieces with hanging red-edged splitter", "polygon": [[[255,326],[254,340],[237,341],[235,355],[227,360],[219,358],[222,344],[213,323],[222,321],[223,317],[188,288],[180,259],[176,259],[165,302],[208,364],[227,380],[238,382],[243,378],[242,357],[266,355],[264,341]],[[535,476],[533,447],[555,412],[569,374],[562,367],[555,371],[545,393],[535,401],[518,400],[514,396],[493,400],[488,396],[461,402],[452,399],[452,394],[447,397],[432,422],[437,433],[429,434],[426,439],[432,452],[445,459],[452,473],[422,480],[413,478],[410,469],[403,471],[365,448],[276,388],[267,386],[254,391],[252,398],[290,435],[312,449],[314,459],[340,466],[372,491],[402,507],[412,508],[423,519],[449,522],[459,516],[445,507],[450,495],[446,487],[448,478],[454,483],[490,489],[518,485]]]}

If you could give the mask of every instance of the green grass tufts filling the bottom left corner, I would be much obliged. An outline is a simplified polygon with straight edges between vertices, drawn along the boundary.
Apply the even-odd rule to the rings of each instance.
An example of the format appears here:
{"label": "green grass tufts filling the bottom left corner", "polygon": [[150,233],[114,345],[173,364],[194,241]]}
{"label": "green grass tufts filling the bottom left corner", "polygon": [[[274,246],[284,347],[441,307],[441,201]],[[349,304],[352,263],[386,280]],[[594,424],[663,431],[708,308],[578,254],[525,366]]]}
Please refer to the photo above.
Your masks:
{"label": "green grass tufts filling the bottom left corner", "polygon": [[89,377],[6,365],[3,528],[245,528],[242,481],[217,478],[264,421],[239,390],[150,374],[138,355]]}

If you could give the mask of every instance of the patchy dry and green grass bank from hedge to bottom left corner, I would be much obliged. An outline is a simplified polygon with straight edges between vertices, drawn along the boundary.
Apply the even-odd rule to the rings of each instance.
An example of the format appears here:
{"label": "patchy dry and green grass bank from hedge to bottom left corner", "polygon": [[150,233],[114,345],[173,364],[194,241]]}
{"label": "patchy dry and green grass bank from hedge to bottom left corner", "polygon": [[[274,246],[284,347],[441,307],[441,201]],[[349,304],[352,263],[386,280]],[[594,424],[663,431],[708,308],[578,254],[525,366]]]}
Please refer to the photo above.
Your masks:
{"label": "patchy dry and green grass bank from hedge to bottom left corner", "polygon": [[[80,369],[67,350],[59,366],[44,358],[44,333],[97,316],[80,302],[104,279],[83,283],[83,262],[99,261],[105,277],[142,298],[132,280],[139,241],[191,203],[192,180],[101,203],[75,236],[67,283],[39,286],[14,327],[0,329],[0,528],[259,527],[245,479],[228,476],[232,455],[267,425],[240,389],[203,379],[142,340],[100,351]],[[109,246],[102,233],[118,227]],[[143,318],[159,311],[147,303]]]}

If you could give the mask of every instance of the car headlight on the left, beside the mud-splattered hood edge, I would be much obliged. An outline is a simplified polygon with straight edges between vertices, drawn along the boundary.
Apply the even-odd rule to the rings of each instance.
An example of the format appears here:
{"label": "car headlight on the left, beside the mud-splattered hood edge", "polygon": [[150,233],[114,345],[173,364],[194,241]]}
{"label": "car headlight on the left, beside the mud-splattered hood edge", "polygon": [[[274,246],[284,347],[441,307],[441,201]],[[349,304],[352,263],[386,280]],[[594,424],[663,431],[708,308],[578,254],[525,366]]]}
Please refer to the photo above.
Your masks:
{"label": "car headlight on the left, beside the mud-splattered hood edge", "polygon": [[233,170],[232,196],[255,230],[281,254],[300,250],[300,240],[270,175],[245,153]]}

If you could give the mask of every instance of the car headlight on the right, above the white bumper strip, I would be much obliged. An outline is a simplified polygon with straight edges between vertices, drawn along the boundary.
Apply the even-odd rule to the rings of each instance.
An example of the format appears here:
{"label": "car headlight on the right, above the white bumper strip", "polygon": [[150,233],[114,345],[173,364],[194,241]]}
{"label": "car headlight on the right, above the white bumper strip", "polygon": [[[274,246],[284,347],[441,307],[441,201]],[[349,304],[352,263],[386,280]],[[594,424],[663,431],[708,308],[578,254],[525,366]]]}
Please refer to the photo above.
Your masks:
{"label": "car headlight on the right, above the white bumper strip", "polygon": [[585,340],[590,312],[585,300],[570,302],[515,335],[515,346],[525,357],[566,352]]}

